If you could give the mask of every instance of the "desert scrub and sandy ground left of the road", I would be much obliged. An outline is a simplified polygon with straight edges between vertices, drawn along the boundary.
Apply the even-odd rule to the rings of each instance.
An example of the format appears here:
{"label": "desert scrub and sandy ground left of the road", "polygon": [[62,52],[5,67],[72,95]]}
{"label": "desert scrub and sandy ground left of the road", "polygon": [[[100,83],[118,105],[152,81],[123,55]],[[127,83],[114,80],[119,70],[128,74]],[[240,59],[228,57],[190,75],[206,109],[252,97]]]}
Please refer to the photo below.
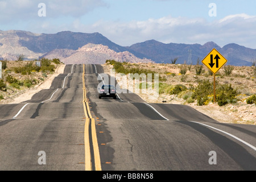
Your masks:
{"label": "desert scrub and sandy ground left of the road", "polygon": [[[36,65],[40,61],[41,66]],[[45,59],[23,61],[23,55],[16,61],[2,60],[2,78],[0,79],[0,101],[11,95],[32,88],[44,81],[52,74],[58,65],[62,64],[59,59]]]}

